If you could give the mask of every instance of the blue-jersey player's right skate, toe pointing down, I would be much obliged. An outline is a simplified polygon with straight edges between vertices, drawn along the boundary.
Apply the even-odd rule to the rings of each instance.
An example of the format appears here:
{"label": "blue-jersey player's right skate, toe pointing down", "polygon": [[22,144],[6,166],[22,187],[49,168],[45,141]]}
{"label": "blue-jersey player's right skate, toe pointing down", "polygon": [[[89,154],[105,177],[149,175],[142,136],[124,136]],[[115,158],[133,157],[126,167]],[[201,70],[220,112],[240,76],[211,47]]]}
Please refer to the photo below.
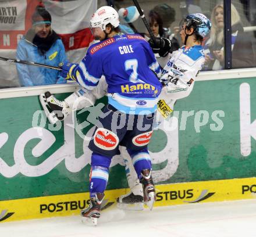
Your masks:
{"label": "blue-jersey player's right skate, toe pointing down", "polygon": [[155,203],[155,186],[151,177],[151,170],[141,171],[140,182],[143,186],[144,203],[152,210]]}

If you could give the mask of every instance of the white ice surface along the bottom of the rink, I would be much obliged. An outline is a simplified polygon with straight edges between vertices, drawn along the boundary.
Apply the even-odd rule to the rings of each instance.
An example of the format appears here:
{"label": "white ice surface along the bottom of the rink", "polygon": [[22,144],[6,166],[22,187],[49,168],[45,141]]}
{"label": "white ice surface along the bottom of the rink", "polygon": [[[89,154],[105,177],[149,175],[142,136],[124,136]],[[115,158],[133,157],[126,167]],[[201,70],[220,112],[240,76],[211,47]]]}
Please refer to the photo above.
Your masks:
{"label": "white ice surface along the bottom of the rink", "polygon": [[1,237],[256,237],[256,200],[196,203],[154,210],[105,210],[97,227],[79,216],[0,224]]}

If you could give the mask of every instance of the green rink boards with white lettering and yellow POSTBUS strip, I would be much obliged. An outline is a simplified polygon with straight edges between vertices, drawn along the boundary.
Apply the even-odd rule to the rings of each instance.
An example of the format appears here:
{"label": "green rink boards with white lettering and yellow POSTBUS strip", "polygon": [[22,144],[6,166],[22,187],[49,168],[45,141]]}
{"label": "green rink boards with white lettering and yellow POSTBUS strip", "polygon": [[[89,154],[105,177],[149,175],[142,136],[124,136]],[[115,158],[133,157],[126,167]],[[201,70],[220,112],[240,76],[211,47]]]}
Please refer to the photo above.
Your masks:
{"label": "green rink boards with white lettering and yellow POSTBUS strip", "polygon": [[[173,124],[153,132],[155,206],[254,198],[255,75],[255,69],[201,73],[191,95],[177,101]],[[53,126],[38,100],[47,90],[63,99],[76,88],[0,90],[0,222],[79,214],[86,206],[91,151],[83,135],[93,127],[77,127],[88,113],[74,114],[77,124],[69,117]],[[123,159],[115,156],[105,209],[126,188]]]}

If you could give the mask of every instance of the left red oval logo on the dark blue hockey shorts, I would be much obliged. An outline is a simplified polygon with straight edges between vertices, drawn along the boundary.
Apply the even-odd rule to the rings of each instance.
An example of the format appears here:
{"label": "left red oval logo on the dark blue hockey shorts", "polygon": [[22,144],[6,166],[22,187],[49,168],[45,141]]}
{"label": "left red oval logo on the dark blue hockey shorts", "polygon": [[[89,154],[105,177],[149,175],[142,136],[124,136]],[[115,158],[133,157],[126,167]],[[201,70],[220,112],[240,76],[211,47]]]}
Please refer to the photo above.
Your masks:
{"label": "left red oval logo on the dark blue hockey shorts", "polygon": [[94,135],[95,145],[104,150],[115,149],[118,146],[118,141],[118,136],[105,128],[98,128]]}

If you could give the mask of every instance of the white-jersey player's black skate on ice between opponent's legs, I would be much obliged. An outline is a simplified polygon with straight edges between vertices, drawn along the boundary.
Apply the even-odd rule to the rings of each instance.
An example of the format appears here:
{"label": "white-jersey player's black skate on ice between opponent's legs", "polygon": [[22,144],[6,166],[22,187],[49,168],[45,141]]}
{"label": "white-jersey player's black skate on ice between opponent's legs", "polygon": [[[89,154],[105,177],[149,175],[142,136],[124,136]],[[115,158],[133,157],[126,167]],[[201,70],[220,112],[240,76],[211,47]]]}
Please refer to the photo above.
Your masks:
{"label": "white-jersey player's black skate on ice between opponent's legs", "polygon": [[126,195],[120,196],[116,202],[118,203],[116,206],[119,209],[124,210],[136,210],[140,211],[144,209],[144,203],[143,203],[143,191],[141,184],[137,184],[133,188],[131,188],[131,191],[127,193]]}

